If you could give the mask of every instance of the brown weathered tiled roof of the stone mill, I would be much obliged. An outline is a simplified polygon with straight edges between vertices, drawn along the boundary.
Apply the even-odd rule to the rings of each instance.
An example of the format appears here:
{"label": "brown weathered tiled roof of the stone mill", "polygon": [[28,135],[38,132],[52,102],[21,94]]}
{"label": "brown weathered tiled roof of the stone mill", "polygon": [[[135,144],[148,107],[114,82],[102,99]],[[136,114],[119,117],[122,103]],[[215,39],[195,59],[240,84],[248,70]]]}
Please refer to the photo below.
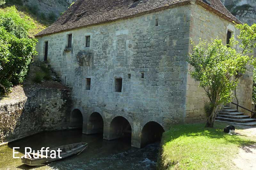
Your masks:
{"label": "brown weathered tiled roof of the stone mill", "polygon": [[[195,0],[77,0],[56,22],[36,36],[132,18],[174,6],[191,4],[192,1]],[[211,3],[208,4],[207,1]],[[239,23],[220,0],[196,0],[196,3],[222,18]]]}

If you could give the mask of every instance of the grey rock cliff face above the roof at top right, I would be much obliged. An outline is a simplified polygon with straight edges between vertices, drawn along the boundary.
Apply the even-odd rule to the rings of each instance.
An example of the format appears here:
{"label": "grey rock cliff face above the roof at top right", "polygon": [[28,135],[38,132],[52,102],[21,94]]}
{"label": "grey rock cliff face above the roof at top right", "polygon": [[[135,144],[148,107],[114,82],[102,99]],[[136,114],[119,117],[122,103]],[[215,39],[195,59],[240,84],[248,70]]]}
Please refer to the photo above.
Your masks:
{"label": "grey rock cliff face above the roof at top right", "polygon": [[256,0],[221,0],[242,23],[256,23]]}

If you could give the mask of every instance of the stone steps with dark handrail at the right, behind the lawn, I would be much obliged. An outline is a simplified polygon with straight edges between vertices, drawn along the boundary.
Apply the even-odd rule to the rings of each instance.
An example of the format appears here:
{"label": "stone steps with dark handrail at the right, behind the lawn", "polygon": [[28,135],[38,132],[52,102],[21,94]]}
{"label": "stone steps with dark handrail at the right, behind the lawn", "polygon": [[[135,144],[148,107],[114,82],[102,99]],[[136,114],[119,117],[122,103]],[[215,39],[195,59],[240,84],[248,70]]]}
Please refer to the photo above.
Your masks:
{"label": "stone steps with dark handrail at the right, behind the lawn", "polygon": [[252,119],[250,116],[226,106],[216,115],[215,120],[230,124],[256,126],[256,119]]}

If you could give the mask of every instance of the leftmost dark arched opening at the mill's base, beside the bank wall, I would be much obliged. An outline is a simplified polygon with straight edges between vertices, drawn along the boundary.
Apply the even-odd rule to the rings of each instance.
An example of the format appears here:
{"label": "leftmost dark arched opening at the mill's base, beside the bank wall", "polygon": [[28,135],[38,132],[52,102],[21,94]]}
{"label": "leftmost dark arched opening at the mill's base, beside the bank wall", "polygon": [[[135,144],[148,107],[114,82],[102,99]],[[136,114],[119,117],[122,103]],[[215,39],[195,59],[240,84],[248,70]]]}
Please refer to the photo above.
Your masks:
{"label": "leftmost dark arched opening at the mill's base, beside the bank wall", "polygon": [[75,109],[71,112],[69,128],[71,129],[83,128],[83,115],[79,109]]}

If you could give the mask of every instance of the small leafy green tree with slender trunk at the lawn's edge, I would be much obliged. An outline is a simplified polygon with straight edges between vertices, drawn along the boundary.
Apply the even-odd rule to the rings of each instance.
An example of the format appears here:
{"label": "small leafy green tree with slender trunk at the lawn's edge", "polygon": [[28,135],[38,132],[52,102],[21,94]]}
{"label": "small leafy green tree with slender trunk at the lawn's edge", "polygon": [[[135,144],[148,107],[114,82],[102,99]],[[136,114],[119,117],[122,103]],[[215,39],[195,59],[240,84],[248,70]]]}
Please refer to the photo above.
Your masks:
{"label": "small leafy green tree with slender trunk at the lawn's edge", "polygon": [[213,127],[218,106],[226,104],[232,99],[232,91],[237,86],[237,78],[232,76],[245,73],[249,56],[236,52],[234,46],[238,44],[234,37],[229,46],[223,45],[221,39],[214,39],[206,44],[201,41],[198,45],[192,41],[192,53],[188,63],[194,67],[191,76],[199,81],[208,96],[212,111],[207,118],[207,127]]}

